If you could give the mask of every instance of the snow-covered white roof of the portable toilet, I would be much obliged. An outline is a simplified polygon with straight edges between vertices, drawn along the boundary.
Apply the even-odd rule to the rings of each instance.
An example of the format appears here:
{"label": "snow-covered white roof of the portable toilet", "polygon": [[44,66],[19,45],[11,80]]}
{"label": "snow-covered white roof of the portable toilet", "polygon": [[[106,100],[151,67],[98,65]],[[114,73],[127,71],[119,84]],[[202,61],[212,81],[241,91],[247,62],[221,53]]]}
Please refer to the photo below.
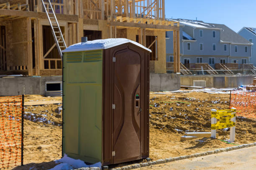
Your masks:
{"label": "snow-covered white roof of the portable toilet", "polygon": [[143,45],[139,44],[138,42],[134,42],[132,40],[128,40],[126,38],[109,38],[105,40],[93,40],[87,42],[79,42],[77,44],[70,45],[62,52],[73,52],[73,51],[87,51],[87,50],[100,50],[100,49],[107,49],[111,47],[115,47],[121,44],[125,44],[131,42],[149,52],[152,52],[150,49],[144,47]]}

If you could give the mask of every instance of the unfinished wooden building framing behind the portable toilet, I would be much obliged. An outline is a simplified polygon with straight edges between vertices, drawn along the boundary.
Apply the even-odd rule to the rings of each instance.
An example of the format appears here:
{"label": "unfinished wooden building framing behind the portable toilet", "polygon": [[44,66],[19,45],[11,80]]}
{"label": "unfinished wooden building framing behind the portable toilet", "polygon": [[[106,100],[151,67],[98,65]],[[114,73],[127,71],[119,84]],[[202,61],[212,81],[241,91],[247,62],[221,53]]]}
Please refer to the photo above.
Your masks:
{"label": "unfinished wooden building framing behind the portable toilet", "polygon": [[[165,20],[164,0],[44,0],[56,14],[67,46],[127,38],[150,48],[150,70],[166,73],[165,32],[174,31],[174,72],[179,65],[179,22]],[[62,75],[42,0],[0,0],[0,74]]]}

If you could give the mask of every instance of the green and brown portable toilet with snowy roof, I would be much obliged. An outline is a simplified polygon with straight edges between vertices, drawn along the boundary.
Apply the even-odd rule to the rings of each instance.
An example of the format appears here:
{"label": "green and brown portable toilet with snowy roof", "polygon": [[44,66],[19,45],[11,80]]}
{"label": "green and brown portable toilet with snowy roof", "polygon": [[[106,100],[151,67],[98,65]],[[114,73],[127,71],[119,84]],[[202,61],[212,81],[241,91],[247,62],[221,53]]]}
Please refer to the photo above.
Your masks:
{"label": "green and brown portable toilet with snowy roof", "polygon": [[62,155],[102,165],[149,155],[149,55],[124,39],[63,50]]}

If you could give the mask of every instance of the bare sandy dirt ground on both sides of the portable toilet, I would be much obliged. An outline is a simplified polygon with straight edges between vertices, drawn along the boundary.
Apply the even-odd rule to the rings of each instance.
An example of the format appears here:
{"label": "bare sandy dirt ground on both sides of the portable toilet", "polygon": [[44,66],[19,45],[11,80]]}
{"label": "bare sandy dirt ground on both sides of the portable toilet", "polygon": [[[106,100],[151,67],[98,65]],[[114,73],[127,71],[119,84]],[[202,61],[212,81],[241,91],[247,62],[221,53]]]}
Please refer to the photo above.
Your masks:
{"label": "bare sandy dirt ground on both sides of the portable toilet", "polygon": [[[236,117],[235,143],[229,139],[229,129],[217,130],[218,139],[197,138],[180,141],[185,132],[210,132],[211,109],[228,109],[229,94],[207,92],[150,93],[150,158],[157,160],[217,148],[255,142],[256,121]],[[40,101],[57,100],[59,104],[40,105]],[[61,158],[62,98],[26,95],[26,102],[38,105],[24,108],[24,166],[15,170],[53,168],[54,160]],[[142,161],[142,160],[141,160]],[[120,164],[117,166],[123,166]],[[127,165],[127,164],[126,164]]]}

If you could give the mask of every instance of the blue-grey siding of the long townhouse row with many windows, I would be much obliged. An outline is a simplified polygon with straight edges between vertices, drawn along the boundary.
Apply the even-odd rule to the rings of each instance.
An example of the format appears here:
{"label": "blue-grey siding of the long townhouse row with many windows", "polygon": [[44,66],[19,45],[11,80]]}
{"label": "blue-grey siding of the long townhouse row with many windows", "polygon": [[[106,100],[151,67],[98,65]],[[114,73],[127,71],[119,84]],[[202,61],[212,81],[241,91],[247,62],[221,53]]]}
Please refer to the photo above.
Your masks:
{"label": "blue-grey siding of the long townhouse row with many windows", "polygon": [[[220,42],[220,31],[203,28],[192,28],[187,25],[181,27],[181,42],[180,53],[182,55],[181,62],[184,63],[184,58],[189,58],[190,63],[196,63],[196,57],[202,57],[203,63],[209,63],[209,57],[215,58],[215,63],[220,63],[220,59],[225,59],[226,63],[231,63],[231,60],[238,60],[238,63],[242,63],[242,59],[247,59],[249,63],[249,57],[251,56],[251,45],[233,45],[230,43]],[[196,41],[182,41],[182,30],[189,34],[191,37],[194,35]],[[200,37],[200,30],[203,30],[203,36]],[[212,31],[215,31],[215,37],[212,36]],[[166,61],[169,61],[169,55],[173,55],[173,32],[167,32],[167,36],[170,38],[166,40]],[[256,40],[255,40],[256,42]],[[190,50],[187,50],[187,43],[190,43]],[[203,44],[203,50],[200,50],[200,43]],[[216,45],[216,50],[213,50],[212,45]],[[227,45],[227,50],[224,50],[224,45]],[[238,52],[235,52],[235,46],[238,46]],[[247,46],[247,52],[245,52],[245,46]],[[214,67],[214,64],[211,65]]]}

